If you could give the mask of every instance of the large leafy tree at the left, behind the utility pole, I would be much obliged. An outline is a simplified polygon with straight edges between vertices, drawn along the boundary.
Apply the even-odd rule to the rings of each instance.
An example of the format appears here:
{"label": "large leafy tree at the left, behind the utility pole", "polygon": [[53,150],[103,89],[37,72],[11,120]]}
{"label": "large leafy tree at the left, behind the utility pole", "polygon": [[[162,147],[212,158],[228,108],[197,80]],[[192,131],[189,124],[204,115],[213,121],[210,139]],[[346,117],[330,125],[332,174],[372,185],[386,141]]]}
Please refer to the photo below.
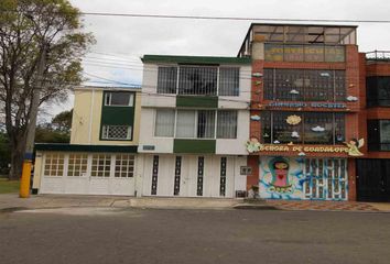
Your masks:
{"label": "large leafy tree at the left, behind the utility pole", "polygon": [[40,91],[40,106],[61,102],[82,81],[82,56],[94,43],[82,29],[80,13],[67,0],[0,1],[0,107],[12,150],[10,178],[21,175],[26,134],[33,125],[33,95]]}

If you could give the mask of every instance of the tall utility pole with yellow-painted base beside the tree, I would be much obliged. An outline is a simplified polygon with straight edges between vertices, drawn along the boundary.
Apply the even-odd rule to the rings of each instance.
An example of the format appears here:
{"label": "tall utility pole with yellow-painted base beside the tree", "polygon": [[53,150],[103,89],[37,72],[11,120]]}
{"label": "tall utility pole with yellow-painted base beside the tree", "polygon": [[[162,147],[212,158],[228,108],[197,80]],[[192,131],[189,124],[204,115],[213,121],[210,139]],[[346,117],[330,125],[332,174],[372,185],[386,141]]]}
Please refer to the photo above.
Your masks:
{"label": "tall utility pole with yellow-painted base beside the tree", "polygon": [[41,99],[41,89],[43,86],[43,73],[46,67],[46,54],[47,54],[47,44],[44,43],[41,51],[40,63],[37,65],[36,84],[33,87],[34,89],[32,89],[31,107],[30,107],[30,114],[29,114],[30,122],[26,128],[28,135],[25,141],[22,179],[20,183],[20,193],[19,193],[20,198],[29,198],[30,196],[31,167],[32,167],[33,152],[34,152],[36,117],[37,117],[37,109]]}

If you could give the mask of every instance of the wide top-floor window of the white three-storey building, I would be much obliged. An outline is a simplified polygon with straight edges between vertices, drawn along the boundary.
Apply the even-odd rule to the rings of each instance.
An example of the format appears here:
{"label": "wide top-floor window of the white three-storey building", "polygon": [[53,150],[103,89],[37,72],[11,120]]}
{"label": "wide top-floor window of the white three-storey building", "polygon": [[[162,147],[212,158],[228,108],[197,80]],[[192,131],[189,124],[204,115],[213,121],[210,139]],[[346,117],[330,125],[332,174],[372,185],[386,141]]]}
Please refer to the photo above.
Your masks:
{"label": "wide top-floor window of the white three-storey building", "polygon": [[239,67],[160,66],[158,94],[217,96],[218,87],[219,96],[239,96]]}

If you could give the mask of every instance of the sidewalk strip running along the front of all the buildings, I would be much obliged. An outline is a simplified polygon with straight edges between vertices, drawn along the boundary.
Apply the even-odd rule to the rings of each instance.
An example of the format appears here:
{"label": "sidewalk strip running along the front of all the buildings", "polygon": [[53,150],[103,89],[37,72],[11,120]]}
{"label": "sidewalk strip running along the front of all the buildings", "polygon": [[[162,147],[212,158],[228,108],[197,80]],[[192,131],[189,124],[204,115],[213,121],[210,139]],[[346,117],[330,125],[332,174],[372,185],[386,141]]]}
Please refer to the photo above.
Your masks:
{"label": "sidewalk strip running along the front of all the buildings", "polygon": [[128,196],[37,195],[28,199],[18,194],[0,195],[0,212],[45,208],[155,208],[155,209],[280,209],[318,211],[390,212],[390,204],[311,200],[256,200],[226,198],[165,198]]}

